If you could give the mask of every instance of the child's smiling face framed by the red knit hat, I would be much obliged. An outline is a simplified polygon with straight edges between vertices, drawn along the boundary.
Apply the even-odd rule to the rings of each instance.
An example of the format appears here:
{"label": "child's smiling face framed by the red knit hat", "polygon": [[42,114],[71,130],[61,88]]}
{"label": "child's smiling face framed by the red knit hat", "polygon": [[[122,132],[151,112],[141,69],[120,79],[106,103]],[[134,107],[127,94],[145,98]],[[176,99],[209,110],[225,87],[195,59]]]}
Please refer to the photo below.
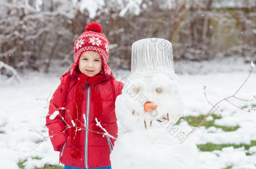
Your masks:
{"label": "child's smiling face framed by the red knit hat", "polygon": [[102,68],[101,56],[97,52],[86,51],[81,54],[78,67],[81,73],[87,76],[97,75]]}

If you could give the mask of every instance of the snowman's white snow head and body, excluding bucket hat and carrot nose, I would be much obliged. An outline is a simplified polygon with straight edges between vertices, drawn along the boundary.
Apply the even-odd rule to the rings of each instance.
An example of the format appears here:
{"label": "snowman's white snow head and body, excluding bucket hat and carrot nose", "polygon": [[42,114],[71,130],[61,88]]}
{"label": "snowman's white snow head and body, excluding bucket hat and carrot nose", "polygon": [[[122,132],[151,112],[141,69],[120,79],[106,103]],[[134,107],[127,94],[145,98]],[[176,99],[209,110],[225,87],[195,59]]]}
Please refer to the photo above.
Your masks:
{"label": "snowman's white snow head and body, excluding bucket hat and carrot nose", "polygon": [[[196,144],[173,126],[183,113],[175,76],[152,73],[127,80],[115,103],[126,131],[118,134],[110,154],[112,168],[198,169]],[[145,112],[142,98],[156,103],[157,109]]]}

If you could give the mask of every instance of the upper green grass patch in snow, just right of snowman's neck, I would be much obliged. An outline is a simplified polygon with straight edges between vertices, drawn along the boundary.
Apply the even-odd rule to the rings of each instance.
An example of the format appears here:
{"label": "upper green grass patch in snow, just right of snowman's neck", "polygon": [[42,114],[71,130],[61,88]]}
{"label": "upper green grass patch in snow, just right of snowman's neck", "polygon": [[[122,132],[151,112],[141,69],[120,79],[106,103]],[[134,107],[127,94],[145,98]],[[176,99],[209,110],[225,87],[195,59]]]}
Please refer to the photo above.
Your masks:
{"label": "upper green grass patch in snow, just right of snowman's neck", "polygon": [[[201,121],[204,119],[205,115],[201,114],[199,116],[187,116],[185,117],[188,121],[188,123],[191,125],[191,126],[198,126]],[[206,129],[211,127],[211,126],[214,126],[216,128],[221,128],[223,131],[235,131],[239,128],[239,126],[231,126],[231,127],[228,127],[228,126],[219,126],[219,125],[216,125],[214,124],[214,121],[216,119],[219,119],[219,116],[217,116],[216,114],[212,114],[212,117],[213,117],[213,120],[209,120],[209,121],[204,121],[204,123],[201,125],[201,126],[205,126]],[[180,124],[181,120],[185,120],[183,117],[180,118],[178,120],[178,122],[176,124]]]}

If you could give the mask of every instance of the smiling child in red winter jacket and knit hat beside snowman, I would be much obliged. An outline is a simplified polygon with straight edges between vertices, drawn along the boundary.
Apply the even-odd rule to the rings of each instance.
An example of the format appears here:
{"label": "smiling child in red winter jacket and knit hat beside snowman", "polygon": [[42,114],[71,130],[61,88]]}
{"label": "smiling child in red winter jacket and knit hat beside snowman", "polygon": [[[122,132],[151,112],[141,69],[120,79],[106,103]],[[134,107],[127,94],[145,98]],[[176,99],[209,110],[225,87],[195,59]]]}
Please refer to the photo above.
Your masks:
{"label": "smiling child in red winter jacket and knit hat beside snowman", "polygon": [[101,32],[98,23],[86,26],[74,45],[74,63],[50,101],[46,126],[64,169],[111,169],[114,140],[102,137],[95,118],[117,138],[115,99],[123,83],[115,81],[107,65],[109,43]]}

